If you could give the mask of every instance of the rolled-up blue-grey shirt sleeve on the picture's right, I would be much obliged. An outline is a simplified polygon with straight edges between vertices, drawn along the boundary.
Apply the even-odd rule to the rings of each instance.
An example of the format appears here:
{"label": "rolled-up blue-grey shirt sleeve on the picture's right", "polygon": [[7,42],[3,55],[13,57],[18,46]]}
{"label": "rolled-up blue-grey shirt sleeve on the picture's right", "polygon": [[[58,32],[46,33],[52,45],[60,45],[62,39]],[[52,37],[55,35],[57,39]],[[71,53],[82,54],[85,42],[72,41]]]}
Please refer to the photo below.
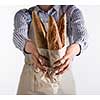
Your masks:
{"label": "rolled-up blue-grey shirt sleeve on the picture's right", "polygon": [[80,53],[87,48],[87,30],[82,12],[76,8],[71,15],[71,30],[73,42],[80,45]]}

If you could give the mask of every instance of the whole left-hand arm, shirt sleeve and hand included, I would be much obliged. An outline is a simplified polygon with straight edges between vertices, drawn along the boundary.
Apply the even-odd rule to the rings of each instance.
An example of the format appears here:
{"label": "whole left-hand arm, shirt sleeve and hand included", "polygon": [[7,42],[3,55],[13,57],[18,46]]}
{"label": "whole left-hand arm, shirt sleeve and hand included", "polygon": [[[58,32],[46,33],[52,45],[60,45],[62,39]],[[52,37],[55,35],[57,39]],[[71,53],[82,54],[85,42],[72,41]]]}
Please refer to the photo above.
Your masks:
{"label": "whole left-hand arm, shirt sleeve and hand included", "polygon": [[41,70],[46,70],[46,60],[39,55],[35,44],[28,38],[28,23],[30,16],[25,12],[26,10],[20,10],[14,17],[14,33],[13,42],[15,46],[24,53],[32,54],[33,63],[37,65]]}

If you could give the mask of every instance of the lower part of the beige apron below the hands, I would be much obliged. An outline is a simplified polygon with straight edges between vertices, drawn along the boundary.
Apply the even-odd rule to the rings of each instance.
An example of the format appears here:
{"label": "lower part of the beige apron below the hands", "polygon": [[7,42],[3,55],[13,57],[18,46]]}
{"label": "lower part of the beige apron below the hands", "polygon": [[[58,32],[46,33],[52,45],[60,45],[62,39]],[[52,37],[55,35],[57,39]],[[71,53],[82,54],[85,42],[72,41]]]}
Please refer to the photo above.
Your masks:
{"label": "lower part of the beige apron below the hands", "polygon": [[[56,89],[58,83],[42,83],[38,84],[40,80],[40,73],[35,72],[32,65],[32,59],[30,54],[25,54],[25,65],[20,77],[18,86],[18,95],[43,95],[43,94],[75,94],[75,84],[70,70],[62,76],[59,82],[59,89]],[[53,88],[51,87],[53,85]],[[55,90],[56,91],[55,93]]]}

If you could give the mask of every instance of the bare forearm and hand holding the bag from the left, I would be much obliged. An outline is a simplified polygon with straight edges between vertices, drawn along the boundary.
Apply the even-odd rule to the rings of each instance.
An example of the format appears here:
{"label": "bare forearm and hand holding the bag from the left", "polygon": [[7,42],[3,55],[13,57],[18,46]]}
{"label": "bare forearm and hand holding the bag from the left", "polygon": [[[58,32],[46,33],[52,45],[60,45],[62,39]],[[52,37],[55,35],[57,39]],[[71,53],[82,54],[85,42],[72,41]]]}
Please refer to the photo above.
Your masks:
{"label": "bare forearm and hand holding the bag from the left", "polygon": [[31,40],[28,40],[26,42],[25,51],[32,54],[33,64],[35,64],[36,67],[43,72],[47,71],[49,61],[47,58],[39,55],[35,43],[33,43]]}

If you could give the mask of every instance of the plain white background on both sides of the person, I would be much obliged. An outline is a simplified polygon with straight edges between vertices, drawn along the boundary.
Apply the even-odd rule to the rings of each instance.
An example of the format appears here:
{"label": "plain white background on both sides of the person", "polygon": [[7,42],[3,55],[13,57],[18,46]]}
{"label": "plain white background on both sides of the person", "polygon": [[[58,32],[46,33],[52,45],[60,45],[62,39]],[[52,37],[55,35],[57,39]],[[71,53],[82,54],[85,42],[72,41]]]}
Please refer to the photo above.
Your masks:
{"label": "plain white background on both sides of the person", "polygon": [[[13,44],[13,19],[15,13],[28,6],[0,6],[0,94],[16,94],[24,64],[22,52]],[[100,6],[77,6],[84,15],[89,34],[89,47],[76,57],[72,71],[77,94],[100,94]]]}

